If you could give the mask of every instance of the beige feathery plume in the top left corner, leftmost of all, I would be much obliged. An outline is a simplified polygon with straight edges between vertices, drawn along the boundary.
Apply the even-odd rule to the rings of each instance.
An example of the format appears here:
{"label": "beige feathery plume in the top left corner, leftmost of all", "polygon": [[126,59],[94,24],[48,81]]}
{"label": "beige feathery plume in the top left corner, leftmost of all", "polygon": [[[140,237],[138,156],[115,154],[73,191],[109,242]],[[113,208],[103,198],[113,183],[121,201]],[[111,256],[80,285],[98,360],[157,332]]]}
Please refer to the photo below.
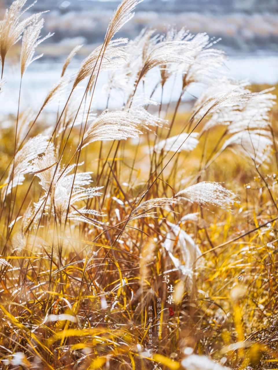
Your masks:
{"label": "beige feathery plume in the top left corner, leftmost of all", "polygon": [[29,26],[32,22],[36,21],[42,13],[33,14],[26,19],[19,21],[20,16],[36,1],[26,9],[22,10],[26,0],[14,1],[10,8],[6,10],[4,19],[0,21],[0,58],[2,63],[2,73],[4,68],[4,61],[7,51],[21,38],[24,28]]}

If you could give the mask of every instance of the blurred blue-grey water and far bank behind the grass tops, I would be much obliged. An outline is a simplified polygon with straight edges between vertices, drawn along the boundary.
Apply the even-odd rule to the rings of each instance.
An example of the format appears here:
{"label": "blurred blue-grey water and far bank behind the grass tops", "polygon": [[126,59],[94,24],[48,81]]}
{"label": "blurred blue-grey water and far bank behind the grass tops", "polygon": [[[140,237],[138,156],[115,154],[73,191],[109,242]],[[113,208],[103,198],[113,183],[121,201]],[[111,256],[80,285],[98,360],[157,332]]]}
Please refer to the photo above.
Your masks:
{"label": "blurred blue-grey water and far bank behind the grass tops", "polygon": [[[11,3],[12,0],[0,2],[1,17]],[[26,5],[31,3],[28,0]],[[41,99],[45,89],[58,80],[67,54],[77,44],[83,44],[70,67],[77,69],[81,59],[103,42],[110,17],[119,3],[120,0],[38,0],[26,16],[31,12],[50,10],[43,14],[44,34],[55,34],[38,48],[38,53],[44,53],[43,58],[27,70],[27,93],[28,88],[36,87],[36,99]],[[137,6],[133,20],[117,33],[117,37],[134,38],[144,27],[163,33],[169,25],[178,29],[185,26],[194,34],[206,32],[212,40],[221,38],[215,47],[223,49],[228,55],[227,68],[235,78],[259,84],[277,83],[277,0],[144,0]],[[18,44],[10,53],[11,64],[5,73],[6,80],[9,80],[6,92],[11,100],[14,98],[13,89],[18,84],[19,53]],[[41,81],[40,74],[38,81],[42,68],[46,72],[44,80]],[[40,92],[42,87],[43,95]]]}

